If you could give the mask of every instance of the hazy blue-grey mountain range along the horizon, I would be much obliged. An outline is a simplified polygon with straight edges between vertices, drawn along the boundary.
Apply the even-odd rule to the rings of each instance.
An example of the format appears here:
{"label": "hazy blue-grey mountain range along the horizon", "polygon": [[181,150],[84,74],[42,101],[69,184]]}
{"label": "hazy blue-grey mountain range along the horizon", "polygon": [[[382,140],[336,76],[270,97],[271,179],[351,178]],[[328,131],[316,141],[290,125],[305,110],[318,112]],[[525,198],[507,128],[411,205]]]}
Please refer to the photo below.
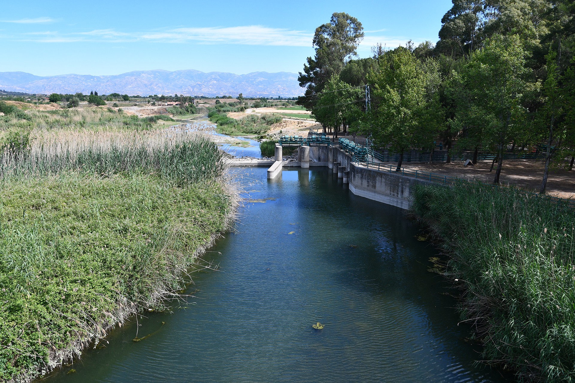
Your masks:
{"label": "hazy blue-grey mountain range along the horizon", "polygon": [[225,72],[183,71],[133,71],[115,76],[59,75],[34,76],[25,72],[0,72],[0,90],[26,93],[82,92],[98,94],[117,92],[128,95],[232,95],[282,96],[302,95],[304,89],[297,81],[296,73],[252,72],[235,75]]}

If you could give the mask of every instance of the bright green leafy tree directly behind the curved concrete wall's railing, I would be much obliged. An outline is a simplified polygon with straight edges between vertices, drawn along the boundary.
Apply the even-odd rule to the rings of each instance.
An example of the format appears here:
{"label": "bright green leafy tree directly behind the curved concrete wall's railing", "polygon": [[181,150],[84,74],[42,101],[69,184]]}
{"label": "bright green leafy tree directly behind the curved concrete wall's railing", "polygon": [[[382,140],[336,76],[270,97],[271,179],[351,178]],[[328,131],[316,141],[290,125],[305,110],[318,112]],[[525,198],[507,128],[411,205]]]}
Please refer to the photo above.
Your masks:
{"label": "bright green leafy tree directly behind the curved concrete wall's railing", "polygon": [[[373,84],[373,112],[371,121],[362,130],[373,136],[378,145],[388,145],[399,154],[400,171],[405,150],[432,142],[438,114],[430,101],[430,91],[436,93],[437,84],[431,84],[430,70],[417,60],[409,49],[399,47],[379,58],[379,73],[372,72],[368,80]],[[438,67],[434,67],[437,69]],[[435,106],[437,107],[437,106]]]}

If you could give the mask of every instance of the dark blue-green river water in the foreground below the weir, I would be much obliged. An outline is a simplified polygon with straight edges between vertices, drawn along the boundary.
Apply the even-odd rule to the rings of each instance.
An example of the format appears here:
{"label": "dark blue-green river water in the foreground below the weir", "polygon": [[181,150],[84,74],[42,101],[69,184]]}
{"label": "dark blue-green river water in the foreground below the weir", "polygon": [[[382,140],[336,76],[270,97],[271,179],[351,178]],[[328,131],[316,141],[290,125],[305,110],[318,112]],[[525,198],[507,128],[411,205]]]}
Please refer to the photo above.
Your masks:
{"label": "dark blue-green river water in the foreground below the weir", "polygon": [[[194,274],[194,297],[45,381],[508,381],[474,365],[480,348],[427,270],[438,252],[404,211],[352,195],[327,168],[237,173],[246,206],[206,253],[218,267]],[[152,335],[133,342],[136,328]]]}

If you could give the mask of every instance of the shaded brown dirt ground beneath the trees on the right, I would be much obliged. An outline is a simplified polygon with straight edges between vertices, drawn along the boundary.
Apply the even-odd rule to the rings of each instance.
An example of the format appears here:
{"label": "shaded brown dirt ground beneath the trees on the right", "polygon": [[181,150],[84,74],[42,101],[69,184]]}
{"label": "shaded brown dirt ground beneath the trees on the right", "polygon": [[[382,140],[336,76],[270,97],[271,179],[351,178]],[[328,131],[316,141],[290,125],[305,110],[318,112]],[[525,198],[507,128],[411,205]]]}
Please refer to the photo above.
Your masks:
{"label": "shaded brown dirt ground beneath the trees on the right", "polygon": [[[543,179],[543,165],[543,161],[534,160],[504,161],[501,168],[500,182],[539,192]],[[485,183],[492,183],[497,164],[495,164],[492,172],[489,172],[491,161],[479,161],[473,167],[464,167],[462,161],[450,164],[404,163],[402,166],[440,175],[477,179]],[[547,194],[560,198],[575,198],[575,170],[568,172],[565,168],[550,169],[549,178],[547,179]]]}

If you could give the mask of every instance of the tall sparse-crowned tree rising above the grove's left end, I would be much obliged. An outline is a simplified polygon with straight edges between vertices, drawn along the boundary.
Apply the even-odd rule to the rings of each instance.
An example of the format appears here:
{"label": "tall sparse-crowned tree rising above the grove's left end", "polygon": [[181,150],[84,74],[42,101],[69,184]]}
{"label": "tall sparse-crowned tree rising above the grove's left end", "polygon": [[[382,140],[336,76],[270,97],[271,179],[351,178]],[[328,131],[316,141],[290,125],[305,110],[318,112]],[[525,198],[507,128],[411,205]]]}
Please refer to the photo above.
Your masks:
{"label": "tall sparse-crowned tree rising above the grove's left end", "polygon": [[308,57],[304,73],[298,81],[306,87],[305,95],[298,98],[298,104],[313,107],[325,83],[333,75],[339,75],[344,64],[357,55],[356,49],[363,38],[363,26],[347,13],[333,13],[327,24],[317,27],[313,36],[315,57]]}

